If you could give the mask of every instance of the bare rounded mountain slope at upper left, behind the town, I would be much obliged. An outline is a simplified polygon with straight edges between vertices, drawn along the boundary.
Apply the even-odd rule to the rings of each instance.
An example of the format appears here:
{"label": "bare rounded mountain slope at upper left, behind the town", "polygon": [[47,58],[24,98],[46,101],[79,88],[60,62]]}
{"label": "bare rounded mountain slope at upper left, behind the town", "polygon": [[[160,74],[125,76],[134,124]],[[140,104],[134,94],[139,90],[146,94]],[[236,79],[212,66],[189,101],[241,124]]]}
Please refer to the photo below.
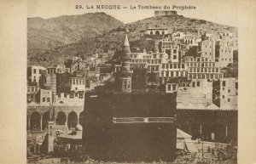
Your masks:
{"label": "bare rounded mountain slope at upper left, behind the town", "polygon": [[54,48],[101,36],[123,23],[104,13],[27,19],[28,59]]}

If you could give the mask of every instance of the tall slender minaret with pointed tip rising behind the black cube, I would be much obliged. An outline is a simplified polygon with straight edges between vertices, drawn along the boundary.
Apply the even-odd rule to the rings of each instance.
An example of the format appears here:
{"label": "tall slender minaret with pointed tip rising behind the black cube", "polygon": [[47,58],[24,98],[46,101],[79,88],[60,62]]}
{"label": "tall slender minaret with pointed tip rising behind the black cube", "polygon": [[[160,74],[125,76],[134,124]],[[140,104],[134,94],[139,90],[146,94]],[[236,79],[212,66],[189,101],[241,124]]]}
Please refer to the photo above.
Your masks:
{"label": "tall slender minaret with pointed tip rising behind the black cube", "polygon": [[128,40],[127,34],[125,35],[125,42],[122,49],[122,67],[121,67],[121,76],[120,76],[120,90],[125,93],[131,93],[131,76],[132,71],[130,70],[130,43]]}

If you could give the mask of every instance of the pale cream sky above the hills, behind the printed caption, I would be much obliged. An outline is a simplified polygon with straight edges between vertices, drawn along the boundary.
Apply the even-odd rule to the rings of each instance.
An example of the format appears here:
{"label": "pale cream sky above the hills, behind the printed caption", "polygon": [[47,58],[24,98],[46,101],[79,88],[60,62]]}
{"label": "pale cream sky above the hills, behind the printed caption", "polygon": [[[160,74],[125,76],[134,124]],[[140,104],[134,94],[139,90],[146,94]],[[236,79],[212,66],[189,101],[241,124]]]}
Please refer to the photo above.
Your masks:
{"label": "pale cream sky above the hills, behind the printed caption", "polygon": [[[82,5],[84,8],[77,9],[76,5]],[[96,9],[96,5],[120,5],[121,9]],[[131,6],[137,5],[160,6],[160,10],[176,10],[177,14],[185,17],[209,20],[223,25],[238,24],[236,0],[28,0],[27,17],[47,19],[61,15],[104,12],[124,23],[131,23],[154,16],[155,9],[131,9]],[[172,9],[173,5],[195,6],[195,9]],[[94,8],[88,9],[86,6]],[[170,9],[164,9],[164,6]]]}

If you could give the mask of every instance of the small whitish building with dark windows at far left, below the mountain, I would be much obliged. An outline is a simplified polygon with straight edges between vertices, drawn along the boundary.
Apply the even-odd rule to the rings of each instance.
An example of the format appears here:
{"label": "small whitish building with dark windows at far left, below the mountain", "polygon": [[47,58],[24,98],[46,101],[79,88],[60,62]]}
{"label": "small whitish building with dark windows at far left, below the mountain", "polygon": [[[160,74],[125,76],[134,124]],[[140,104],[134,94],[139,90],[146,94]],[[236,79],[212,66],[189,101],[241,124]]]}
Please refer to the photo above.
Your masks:
{"label": "small whitish building with dark windows at far left, below the mountain", "polygon": [[27,82],[36,82],[40,85],[41,76],[44,73],[45,68],[43,66],[31,65],[27,67]]}

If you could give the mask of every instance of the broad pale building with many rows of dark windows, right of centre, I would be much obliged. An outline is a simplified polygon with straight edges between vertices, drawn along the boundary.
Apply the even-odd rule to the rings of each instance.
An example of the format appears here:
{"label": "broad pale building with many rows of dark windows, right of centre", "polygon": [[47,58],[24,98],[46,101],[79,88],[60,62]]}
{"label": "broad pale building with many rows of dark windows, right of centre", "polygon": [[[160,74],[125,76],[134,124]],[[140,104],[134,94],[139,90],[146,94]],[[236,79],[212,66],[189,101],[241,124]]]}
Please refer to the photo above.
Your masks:
{"label": "broad pale building with many rows of dark windows, right of centre", "polygon": [[204,57],[186,57],[185,63],[188,67],[189,79],[211,79],[218,80],[223,77],[220,67],[212,59]]}

